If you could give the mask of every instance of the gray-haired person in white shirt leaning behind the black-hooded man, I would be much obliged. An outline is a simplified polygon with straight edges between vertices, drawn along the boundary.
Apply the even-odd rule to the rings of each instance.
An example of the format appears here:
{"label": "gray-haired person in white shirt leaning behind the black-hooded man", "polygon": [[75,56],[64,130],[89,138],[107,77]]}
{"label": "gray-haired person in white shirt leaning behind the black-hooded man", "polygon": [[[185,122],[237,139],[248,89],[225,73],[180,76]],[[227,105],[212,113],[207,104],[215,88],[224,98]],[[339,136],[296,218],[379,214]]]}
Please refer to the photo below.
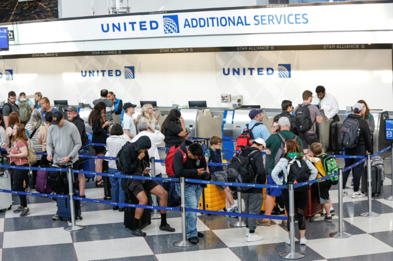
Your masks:
{"label": "gray-haired person in white shirt leaning behind the black-hooded man", "polygon": [[[161,131],[154,130],[152,126],[150,126],[150,124],[148,124],[147,122],[143,122],[143,121],[139,122],[137,128],[138,128],[138,135],[136,135],[134,139],[131,140],[131,142],[138,141],[138,139],[142,136],[149,137],[151,141],[151,148],[148,151],[149,156],[154,157],[155,160],[160,159],[160,156],[158,155],[157,146],[164,141],[165,136],[161,133]],[[156,168],[156,176],[161,174],[162,173],[161,163],[156,163],[154,164],[154,166]]]}

